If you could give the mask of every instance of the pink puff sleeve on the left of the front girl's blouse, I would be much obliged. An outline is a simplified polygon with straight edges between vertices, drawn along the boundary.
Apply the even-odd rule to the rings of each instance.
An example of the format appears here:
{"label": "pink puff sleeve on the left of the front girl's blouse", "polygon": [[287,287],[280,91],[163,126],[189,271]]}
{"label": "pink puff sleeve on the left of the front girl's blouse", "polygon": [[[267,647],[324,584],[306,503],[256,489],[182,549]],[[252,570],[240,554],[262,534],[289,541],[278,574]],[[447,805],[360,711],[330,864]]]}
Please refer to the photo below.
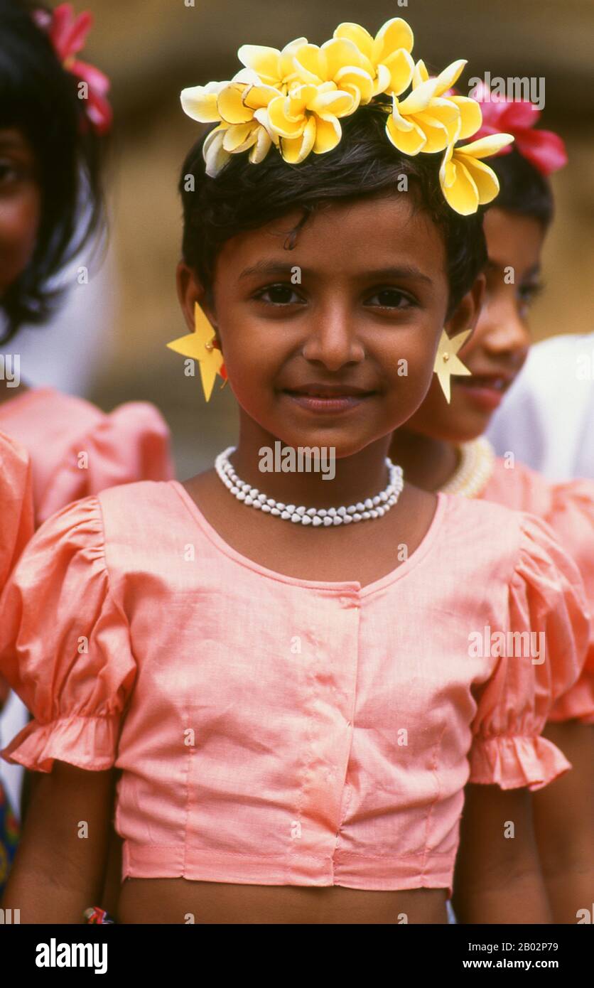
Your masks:
{"label": "pink puff sleeve on the left of the front girl's blouse", "polygon": [[2,757],[37,772],[54,759],[111,768],[135,672],[101,508],[85,498],[42,525],[0,598],[0,673],[35,718]]}

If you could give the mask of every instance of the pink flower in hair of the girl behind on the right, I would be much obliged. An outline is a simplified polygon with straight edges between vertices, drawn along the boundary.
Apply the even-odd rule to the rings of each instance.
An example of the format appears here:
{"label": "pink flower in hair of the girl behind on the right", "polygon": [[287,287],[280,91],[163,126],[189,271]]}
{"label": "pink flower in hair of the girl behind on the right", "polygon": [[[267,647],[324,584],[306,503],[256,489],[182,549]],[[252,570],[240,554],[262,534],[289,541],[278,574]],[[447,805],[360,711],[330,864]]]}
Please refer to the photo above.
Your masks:
{"label": "pink flower in hair of the girl behind on the right", "polygon": [[[543,175],[551,175],[567,164],[565,144],[552,130],[537,130],[535,124],[541,111],[529,100],[507,100],[499,93],[491,93],[479,82],[470,94],[482,111],[482,125],[475,136],[486,137],[505,130],[516,138],[514,147],[524,155]],[[511,146],[499,154],[509,154]]]}

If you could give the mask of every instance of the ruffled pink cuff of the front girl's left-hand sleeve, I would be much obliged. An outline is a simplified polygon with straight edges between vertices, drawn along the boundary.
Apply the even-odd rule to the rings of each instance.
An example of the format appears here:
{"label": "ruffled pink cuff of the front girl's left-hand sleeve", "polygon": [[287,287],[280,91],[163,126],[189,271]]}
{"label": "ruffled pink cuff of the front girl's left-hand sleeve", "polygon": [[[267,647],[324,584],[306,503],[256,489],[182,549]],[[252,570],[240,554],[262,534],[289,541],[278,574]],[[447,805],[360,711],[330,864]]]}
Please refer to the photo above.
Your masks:
{"label": "ruffled pink cuff of the front girl's left-hand sleeve", "polygon": [[119,714],[70,716],[48,724],[31,720],[0,755],[33,772],[51,772],[54,759],[102,772],[115,764],[120,721]]}

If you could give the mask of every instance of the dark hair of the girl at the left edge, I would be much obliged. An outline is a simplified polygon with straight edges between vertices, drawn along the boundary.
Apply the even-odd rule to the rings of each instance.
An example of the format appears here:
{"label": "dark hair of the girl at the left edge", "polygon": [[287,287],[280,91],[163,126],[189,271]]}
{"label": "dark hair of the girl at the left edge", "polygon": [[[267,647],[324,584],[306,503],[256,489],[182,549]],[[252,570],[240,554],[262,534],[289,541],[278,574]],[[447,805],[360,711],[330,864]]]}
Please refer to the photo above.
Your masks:
{"label": "dark hair of the girl at the left edge", "polygon": [[82,123],[76,79],[33,21],[34,9],[49,8],[37,0],[0,0],[0,128],[17,128],[30,141],[41,190],[33,257],[0,298],[7,321],[2,342],[24,323],[48,318],[64,290],[51,280],[105,225],[105,138],[85,127],[86,118]]}

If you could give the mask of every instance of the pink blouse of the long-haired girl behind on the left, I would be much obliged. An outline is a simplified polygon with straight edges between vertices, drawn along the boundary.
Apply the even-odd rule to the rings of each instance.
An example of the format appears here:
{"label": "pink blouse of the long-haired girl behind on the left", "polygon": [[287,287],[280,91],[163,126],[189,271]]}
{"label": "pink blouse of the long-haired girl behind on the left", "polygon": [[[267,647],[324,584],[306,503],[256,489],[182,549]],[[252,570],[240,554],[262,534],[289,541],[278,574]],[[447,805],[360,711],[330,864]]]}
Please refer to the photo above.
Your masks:
{"label": "pink blouse of the long-haired girl behind on the left", "polygon": [[0,429],[31,456],[37,525],[105,487],[175,475],[169,429],[149,402],[128,401],[107,415],[38,387],[0,404]]}

